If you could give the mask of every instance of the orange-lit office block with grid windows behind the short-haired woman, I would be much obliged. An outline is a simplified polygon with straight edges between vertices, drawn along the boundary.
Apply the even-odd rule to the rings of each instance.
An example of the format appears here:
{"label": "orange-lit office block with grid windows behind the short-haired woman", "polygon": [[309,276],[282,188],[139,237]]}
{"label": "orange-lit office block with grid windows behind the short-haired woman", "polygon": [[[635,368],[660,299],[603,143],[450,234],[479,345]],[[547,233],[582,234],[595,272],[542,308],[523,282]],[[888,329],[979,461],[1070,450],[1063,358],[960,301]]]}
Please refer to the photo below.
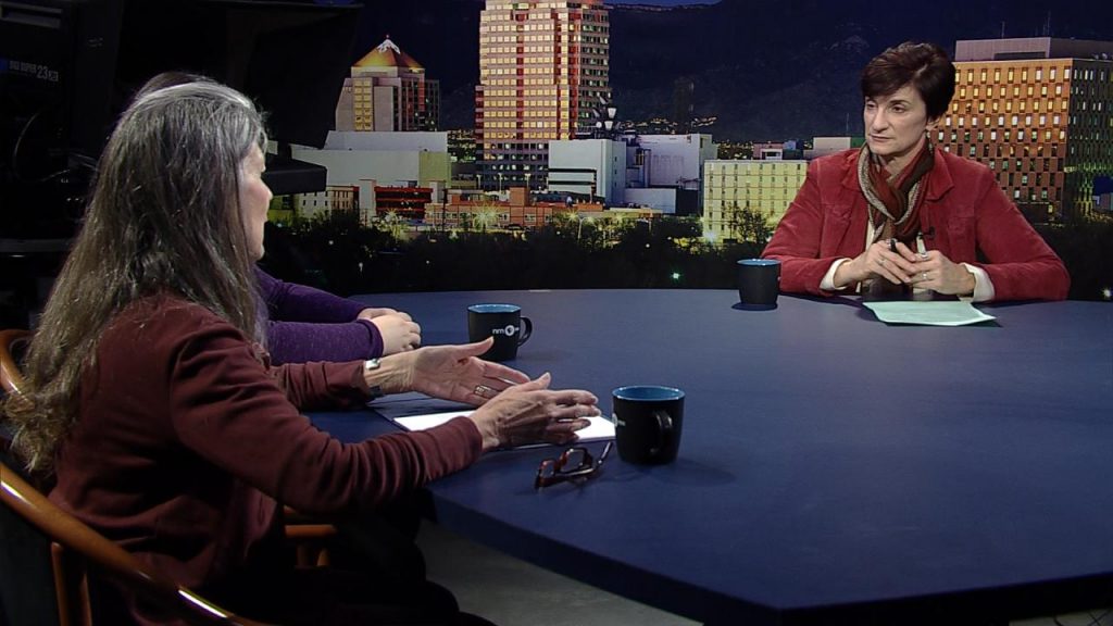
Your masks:
{"label": "orange-lit office block with grid windows behind the short-haired woman", "polygon": [[1033,222],[1093,211],[1113,177],[1113,42],[958,41],[955,69],[938,145],[989,166]]}

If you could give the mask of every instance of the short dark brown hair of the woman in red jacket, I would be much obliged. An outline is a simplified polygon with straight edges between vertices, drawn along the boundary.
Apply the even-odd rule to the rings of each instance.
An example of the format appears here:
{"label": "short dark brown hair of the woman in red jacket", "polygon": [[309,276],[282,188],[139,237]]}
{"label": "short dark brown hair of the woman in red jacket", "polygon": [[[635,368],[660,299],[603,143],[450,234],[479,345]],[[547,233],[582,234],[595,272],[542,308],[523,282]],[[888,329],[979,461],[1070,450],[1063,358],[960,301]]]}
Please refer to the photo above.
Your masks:
{"label": "short dark brown hair of the woman in red jacket", "polygon": [[861,70],[865,98],[890,96],[908,84],[924,98],[928,119],[938,119],[955,95],[955,66],[935,43],[905,41],[874,57]]}

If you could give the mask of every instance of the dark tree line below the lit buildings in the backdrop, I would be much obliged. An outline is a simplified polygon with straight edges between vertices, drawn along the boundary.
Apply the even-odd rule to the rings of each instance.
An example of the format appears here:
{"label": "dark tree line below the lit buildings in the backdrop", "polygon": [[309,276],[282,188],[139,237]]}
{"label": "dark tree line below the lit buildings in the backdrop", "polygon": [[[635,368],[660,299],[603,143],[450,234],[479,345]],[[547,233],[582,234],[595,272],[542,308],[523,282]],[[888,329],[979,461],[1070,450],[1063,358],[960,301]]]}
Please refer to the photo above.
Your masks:
{"label": "dark tree line below the lit buildings in the backdrop", "polygon": [[[742,222],[747,222],[741,216]],[[268,225],[262,264],[276,276],[338,294],[530,288],[735,288],[736,262],[759,256],[768,229],[711,245],[696,217],[580,221],[559,214],[531,231],[364,226],[337,212]],[[1113,221],[1040,226],[1071,272],[1071,297],[1110,300]]]}

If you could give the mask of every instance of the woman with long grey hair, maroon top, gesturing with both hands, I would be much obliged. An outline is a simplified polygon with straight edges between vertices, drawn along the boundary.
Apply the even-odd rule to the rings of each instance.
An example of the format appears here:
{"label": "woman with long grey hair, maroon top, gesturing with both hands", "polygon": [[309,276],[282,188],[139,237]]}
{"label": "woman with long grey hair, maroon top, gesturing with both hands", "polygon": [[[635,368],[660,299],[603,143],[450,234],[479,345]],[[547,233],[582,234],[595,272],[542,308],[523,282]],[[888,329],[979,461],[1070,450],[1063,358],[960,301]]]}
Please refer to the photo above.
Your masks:
{"label": "woman with long grey hair, maroon top, gesturing with both hands", "polygon": [[[359,573],[354,586],[343,573],[311,595],[282,559],[278,503],[374,510],[495,447],[574,439],[597,400],[480,360],[490,340],[269,368],[255,284],[270,200],[265,141],[252,102],[214,82],[156,89],[124,113],[31,342],[24,392],[3,405],[16,449],[53,475],[60,507],[242,613],[453,622],[432,606],[393,606],[401,593],[361,589]],[[298,412],[402,391],[479,409],[356,444]]]}

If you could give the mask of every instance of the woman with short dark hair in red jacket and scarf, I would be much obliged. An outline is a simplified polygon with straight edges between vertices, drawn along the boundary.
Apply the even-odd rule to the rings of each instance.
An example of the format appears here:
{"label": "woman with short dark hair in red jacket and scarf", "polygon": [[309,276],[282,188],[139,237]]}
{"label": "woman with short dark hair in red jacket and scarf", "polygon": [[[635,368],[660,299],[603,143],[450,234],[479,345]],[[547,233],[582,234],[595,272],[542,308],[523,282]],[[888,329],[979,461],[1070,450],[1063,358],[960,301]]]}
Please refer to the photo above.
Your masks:
{"label": "woman with short dark hair in red jacket and scarf", "polygon": [[1063,262],[993,173],[928,138],[954,90],[954,65],[938,46],[906,42],[869,61],[866,145],[809,165],[764,252],[781,262],[781,291],[1066,297]]}

